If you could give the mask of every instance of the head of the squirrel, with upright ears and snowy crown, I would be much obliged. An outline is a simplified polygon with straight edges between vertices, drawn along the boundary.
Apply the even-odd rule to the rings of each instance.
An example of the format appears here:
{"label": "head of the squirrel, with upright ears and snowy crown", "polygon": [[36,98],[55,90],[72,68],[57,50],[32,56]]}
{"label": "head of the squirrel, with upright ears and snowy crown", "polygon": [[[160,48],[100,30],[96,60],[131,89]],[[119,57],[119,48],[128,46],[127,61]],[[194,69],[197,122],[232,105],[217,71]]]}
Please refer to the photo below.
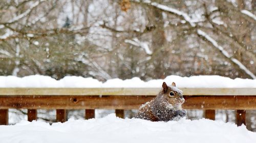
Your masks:
{"label": "head of the squirrel, with upright ears and snowy crown", "polygon": [[173,82],[172,86],[168,87],[165,82],[162,84],[162,96],[174,107],[180,107],[184,103],[185,99],[182,96],[182,91],[176,88],[176,84]]}

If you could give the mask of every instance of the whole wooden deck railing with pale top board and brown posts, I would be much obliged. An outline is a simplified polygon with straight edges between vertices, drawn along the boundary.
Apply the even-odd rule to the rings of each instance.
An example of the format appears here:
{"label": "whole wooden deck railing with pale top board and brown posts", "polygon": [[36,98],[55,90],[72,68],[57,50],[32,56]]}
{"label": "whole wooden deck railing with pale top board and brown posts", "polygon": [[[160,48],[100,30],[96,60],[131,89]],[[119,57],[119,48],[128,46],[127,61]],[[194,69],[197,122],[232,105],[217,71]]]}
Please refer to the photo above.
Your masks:
{"label": "whole wooden deck railing with pale top board and brown posts", "polygon": [[[66,121],[66,109],[85,109],[85,118],[94,118],[94,109],[138,109],[159,92],[156,88],[0,88],[0,125],[8,124],[8,109],[28,109],[28,121],[37,119],[37,109],[56,109],[56,121]],[[245,124],[245,110],[256,109],[255,88],[181,88],[183,108],[203,109],[205,118],[215,120],[216,109],[237,110],[237,124]]]}

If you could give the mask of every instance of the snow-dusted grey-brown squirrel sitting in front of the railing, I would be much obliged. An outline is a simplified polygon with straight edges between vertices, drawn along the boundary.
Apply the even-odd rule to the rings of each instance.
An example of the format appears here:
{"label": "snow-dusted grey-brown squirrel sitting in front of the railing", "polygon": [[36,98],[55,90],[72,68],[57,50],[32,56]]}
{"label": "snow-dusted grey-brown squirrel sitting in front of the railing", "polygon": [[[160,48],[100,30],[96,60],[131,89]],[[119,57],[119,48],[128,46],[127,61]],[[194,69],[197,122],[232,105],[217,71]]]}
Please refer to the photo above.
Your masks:
{"label": "snow-dusted grey-brown squirrel sitting in front of the railing", "polygon": [[156,98],[141,105],[135,118],[150,121],[178,121],[185,117],[187,112],[181,104],[185,102],[182,91],[176,88],[175,82],[168,87],[165,82]]}

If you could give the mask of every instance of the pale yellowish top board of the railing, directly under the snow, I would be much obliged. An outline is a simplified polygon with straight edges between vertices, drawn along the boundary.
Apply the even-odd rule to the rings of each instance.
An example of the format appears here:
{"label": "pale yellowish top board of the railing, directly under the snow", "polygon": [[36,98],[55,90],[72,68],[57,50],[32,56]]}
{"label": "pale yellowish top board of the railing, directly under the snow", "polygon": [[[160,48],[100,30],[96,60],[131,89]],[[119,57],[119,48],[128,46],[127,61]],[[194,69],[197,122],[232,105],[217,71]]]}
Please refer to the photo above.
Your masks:
{"label": "pale yellowish top board of the railing, directly under the snow", "polygon": [[[161,88],[0,88],[0,96],[18,96],[18,95],[115,95],[115,96],[155,96]],[[256,88],[180,88],[183,95],[256,95]]]}

